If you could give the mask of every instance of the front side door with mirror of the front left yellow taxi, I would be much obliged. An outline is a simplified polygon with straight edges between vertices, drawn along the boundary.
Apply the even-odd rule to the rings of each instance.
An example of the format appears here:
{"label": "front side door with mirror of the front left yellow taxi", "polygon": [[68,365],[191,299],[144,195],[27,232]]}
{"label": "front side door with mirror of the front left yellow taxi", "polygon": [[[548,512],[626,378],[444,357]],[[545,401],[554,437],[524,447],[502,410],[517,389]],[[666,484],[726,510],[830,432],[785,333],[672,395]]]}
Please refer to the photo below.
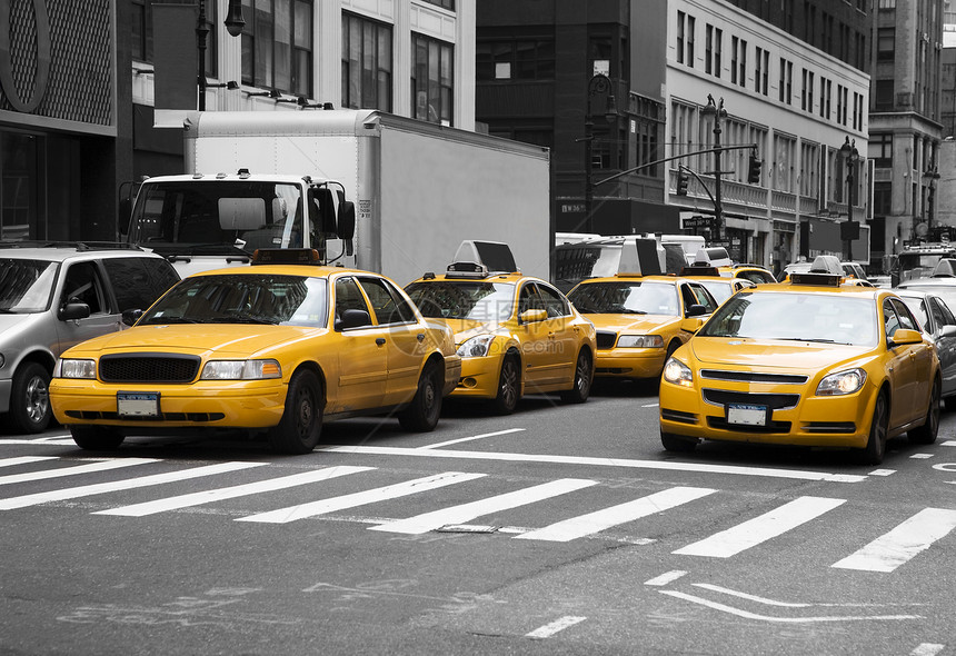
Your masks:
{"label": "front side door with mirror of the front left yellow taxi", "polygon": [[[326,411],[348,413],[381,407],[385,405],[388,376],[386,329],[371,322],[368,304],[353,277],[336,279],[333,302],[335,330],[339,334],[339,371],[336,389],[332,389],[332,380],[328,380]],[[355,327],[340,326],[346,310],[369,312],[369,322]]]}

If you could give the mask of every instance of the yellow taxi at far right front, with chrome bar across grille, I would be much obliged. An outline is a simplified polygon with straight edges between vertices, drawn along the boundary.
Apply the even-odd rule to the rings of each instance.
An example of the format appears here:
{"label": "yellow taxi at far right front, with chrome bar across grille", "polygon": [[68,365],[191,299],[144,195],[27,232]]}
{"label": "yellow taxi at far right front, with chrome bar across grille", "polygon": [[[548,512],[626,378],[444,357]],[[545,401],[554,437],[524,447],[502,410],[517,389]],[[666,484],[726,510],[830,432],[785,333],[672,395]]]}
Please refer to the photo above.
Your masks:
{"label": "yellow taxi at far right front, with chrome bar across grille", "polygon": [[845,286],[840,274],[739,291],[664,367],[660,439],[850,448],[883,460],[906,433],[936,440],[939,359],[889,289]]}

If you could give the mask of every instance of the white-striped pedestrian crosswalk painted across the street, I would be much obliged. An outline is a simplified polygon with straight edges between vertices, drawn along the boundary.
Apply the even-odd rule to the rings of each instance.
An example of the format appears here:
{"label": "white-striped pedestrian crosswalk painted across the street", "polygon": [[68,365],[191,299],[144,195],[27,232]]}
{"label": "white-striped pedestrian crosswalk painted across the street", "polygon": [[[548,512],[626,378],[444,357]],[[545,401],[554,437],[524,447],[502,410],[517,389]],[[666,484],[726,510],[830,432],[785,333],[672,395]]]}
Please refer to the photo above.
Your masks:
{"label": "white-striped pedestrian crosswalk painted across the street", "polygon": [[[157,466],[170,470],[152,473]],[[18,471],[18,469],[27,469]],[[222,483],[221,475],[259,469],[267,477],[253,483],[218,486]],[[441,530],[449,526],[467,526],[476,519],[495,516],[500,518],[518,508],[532,506],[542,501],[561,500],[557,504],[560,511],[570,514],[569,517],[557,518],[556,521],[537,528],[512,528],[502,531],[518,540],[538,543],[568,543],[576,539],[599,537],[613,529],[634,529],[633,524],[641,519],[665,513],[687,509],[695,516],[700,511],[698,504],[704,499],[721,498],[721,491],[707,487],[675,486],[667,487],[606,508],[589,510],[579,515],[568,513],[574,495],[600,485],[597,480],[585,478],[559,478],[538,483],[536,485],[517,487],[488,495],[488,486],[475,488],[474,500],[448,504],[447,496],[438,490],[452,486],[460,498],[472,491],[469,484],[475,485],[486,478],[486,474],[465,471],[440,471],[429,476],[411,478],[388,485],[375,485],[377,476],[382,471],[369,466],[330,466],[310,469],[298,474],[268,476],[270,466],[267,463],[227,461],[213,465],[183,465],[156,458],[116,458],[77,461],[57,457],[17,457],[0,458],[0,510],[17,510],[71,499],[100,497],[107,509],[92,511],[92,515],[114,517],[147,517],[161,513],[181,510],[196,506],[220,504],[240,497],[261,497],[272,499],[271,493],[296,488],[300,503],[278,507],[267,511],[246,514],[236,517],[236,521],[258,524],[290,524],[306,518],[332,515],[372,504],[401,499],[411,495],[425,498],[425,505],[434,509],[401,518],[380,518],[368,527],[368,530],[384,534],[422,535]],[[89,475],[112,471],[123,476],[102,483],[82,483]],[[394,473],[389,473],[392,477]],[[219,477],[217,479],[217,477]],[[341,491],[336,479],[348,477],[359,481],[360,491]],[[163,494],[172,489],[175,484],[187,480],[208,483],[208,488],[186,494]],[[20,486],[30,485],[36,489],[44,481],[59,485],[53,489],[18,494]],[[77,481],[79,485],[69,485]],[[367,485],[368,484],[368,485]],[[514,488],[515,485],[508,484]],[[166,486],[166,487],[163,487]],[[133,489],[149,488],[156,497],[129,505],[111,505],[118,497],[108,495]],[[195,487],[193,487],[195,489]],[[355,488],[349,488],[353,490]],[[462,490],[466,494],[462,495]],[[485,491],[481,491],[485,490]],[[432,493],[428,497],[429,493]],[[120,495],[121,496],[121,495]],[[724,495],[729,497],[729,495]],[[302,497],[309,500],[301,501]],[[571,500],[569,500],[571,499]],[[727,499],[721,499],[731,503]],[[780,536],[797,531],[805,525],[824,519],[837,508],[846,507],[847,499],[800,496],[771,508],[744,510],[743,519],[733,526],[717,526],[715,533],[690,544],[678,546],[670,550],[674,556],[731,558]],[[586,504],[581,504],[585,507]],[[554,508],[551,508],[554,514]],[[537,515],[536,515],[537,516]],[[544,523],[542,523],[544,524]],[[639,526],[639,524],[638,524]],[[910,561],[920,553],[929,549],[935,543],[947,538],[956,528],[956,510],[945,508],[924,508],[910,517],[900,517],[899,524],[880,536],[866,536],[867,544],[856,551],[844,555],[830,565],[838,569],[853,569],[874,573],[892,573]],[[675,539],[671,537],[668,540]],[[654,541],[654,540],[648,540]],[[670,545],[668,545],[668,548]]]}

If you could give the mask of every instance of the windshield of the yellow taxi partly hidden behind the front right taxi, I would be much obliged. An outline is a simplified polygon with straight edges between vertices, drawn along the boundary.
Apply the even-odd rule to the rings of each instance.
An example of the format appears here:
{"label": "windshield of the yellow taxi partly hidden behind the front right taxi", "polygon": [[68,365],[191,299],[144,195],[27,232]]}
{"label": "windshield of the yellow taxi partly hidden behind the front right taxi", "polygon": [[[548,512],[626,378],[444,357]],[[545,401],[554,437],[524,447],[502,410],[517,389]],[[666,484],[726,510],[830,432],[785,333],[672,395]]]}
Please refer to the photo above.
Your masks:
{"label": "windshield of the yellow taxi partly hidden behind the front right taxi", "polygon": [[579,285],[568,295],[582,315],[679,314],[677,287],[667,282],[613,281]]}

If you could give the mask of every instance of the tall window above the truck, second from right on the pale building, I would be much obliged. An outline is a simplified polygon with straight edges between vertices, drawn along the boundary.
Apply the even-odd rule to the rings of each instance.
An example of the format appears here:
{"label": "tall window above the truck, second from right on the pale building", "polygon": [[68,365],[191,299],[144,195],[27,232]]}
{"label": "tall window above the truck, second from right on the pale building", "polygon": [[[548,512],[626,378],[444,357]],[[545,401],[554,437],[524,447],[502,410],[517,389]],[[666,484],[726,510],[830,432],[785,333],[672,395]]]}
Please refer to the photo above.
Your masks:
{"label": "tall window above the truck, second from right on the pale building", "polygon": [[342,13],[342,107],[391,111],[391,26]]}

